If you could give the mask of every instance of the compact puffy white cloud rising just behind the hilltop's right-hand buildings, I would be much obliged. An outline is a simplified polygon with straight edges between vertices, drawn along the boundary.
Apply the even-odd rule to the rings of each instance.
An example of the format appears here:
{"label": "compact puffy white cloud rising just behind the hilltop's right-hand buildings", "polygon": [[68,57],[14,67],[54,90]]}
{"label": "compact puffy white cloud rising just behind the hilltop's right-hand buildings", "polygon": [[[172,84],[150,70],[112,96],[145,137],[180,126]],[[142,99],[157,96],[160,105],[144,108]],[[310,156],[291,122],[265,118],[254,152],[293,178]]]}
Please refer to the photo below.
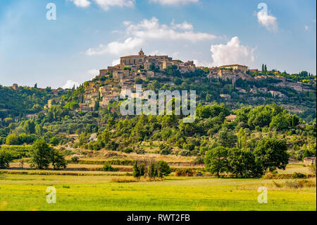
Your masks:
{"label": "compact puffy white cloud rising just behind the hilltop's right-hand buildings", "polygon": [[240,44],[239,37],[232,37],[227,44],[211,45],[212,66],[235,63],[249,65],[254,61],[254,50]]}

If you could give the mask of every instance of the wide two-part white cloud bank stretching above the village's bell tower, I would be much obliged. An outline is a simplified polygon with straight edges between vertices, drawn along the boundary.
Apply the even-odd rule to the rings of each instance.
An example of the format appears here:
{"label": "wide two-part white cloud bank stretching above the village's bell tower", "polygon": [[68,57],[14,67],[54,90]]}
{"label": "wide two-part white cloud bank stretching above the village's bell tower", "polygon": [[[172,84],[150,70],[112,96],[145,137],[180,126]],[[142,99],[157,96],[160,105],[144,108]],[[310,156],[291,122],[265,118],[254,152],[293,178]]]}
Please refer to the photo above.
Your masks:
{"label": "wide two-part white cloud bank stretching above the village's bell tower", "polygon": [[125,21],[123,25],[125,25],[125,34],[128,36],[124,42],[115,41],[106,45],[100,44],[97,48],[88,49],[86,54],[89,56],[101,54],[130,54],[151,39],[198,42],[216,38],[215,35],[209,33],[194,32],[194,27],[186,21],[180,24],[176,24],[172,21],[170,25],[161,25],[159,20],[154,17],[151,18],[151,20],[144,19],[137,24],[131,21]]}

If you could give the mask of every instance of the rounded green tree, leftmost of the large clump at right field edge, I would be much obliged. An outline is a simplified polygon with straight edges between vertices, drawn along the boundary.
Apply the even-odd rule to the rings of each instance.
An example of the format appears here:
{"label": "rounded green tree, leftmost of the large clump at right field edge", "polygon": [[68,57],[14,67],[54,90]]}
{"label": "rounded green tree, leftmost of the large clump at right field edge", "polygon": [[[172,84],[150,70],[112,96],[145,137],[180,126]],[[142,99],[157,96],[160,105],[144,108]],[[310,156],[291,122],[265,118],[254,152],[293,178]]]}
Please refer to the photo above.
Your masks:
{"label": "rounded green tree, leftmost of the large clump at right field edge", "polygon": [[206,171],[219,174],[228,171],[228,150],[225,147],[215,147],[206,152],[204,159]]}

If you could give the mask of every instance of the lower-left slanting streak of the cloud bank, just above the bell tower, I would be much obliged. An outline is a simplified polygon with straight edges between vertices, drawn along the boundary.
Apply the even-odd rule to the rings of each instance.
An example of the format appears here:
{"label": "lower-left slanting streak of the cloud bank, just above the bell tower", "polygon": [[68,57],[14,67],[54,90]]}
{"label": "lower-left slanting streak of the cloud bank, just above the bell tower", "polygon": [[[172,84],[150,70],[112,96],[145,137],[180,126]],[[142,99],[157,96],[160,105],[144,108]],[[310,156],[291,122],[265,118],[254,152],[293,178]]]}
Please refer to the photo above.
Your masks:
{"label": "lower-left slanting streak of the cloud bank, just above the bell tower", "polygon": [[129,54],[139,48],[143,43],[142,39],[129,37],[124,42],[110,42],[107,45],[100,44],[97,48],[90,48],[86,51],[89,56],[101,54]]}

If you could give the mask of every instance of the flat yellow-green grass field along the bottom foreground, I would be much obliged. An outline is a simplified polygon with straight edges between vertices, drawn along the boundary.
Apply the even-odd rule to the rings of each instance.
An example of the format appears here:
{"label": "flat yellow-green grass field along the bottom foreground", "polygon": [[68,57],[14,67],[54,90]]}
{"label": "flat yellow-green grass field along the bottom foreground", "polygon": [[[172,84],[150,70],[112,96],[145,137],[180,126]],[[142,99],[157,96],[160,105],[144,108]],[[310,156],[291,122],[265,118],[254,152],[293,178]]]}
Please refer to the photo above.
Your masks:
{"label": "flat yellow-green grass field along the bottom foreground", "polygon": [[[113,183],[112,178],[0,174],[0,210],[316,210],[316,187],[276,188],[272,180],[168,176]],[[49,186],[56,188],[56,204],[46,203]],[[268,188],[266,204],[257,200],[260,186]]]}

